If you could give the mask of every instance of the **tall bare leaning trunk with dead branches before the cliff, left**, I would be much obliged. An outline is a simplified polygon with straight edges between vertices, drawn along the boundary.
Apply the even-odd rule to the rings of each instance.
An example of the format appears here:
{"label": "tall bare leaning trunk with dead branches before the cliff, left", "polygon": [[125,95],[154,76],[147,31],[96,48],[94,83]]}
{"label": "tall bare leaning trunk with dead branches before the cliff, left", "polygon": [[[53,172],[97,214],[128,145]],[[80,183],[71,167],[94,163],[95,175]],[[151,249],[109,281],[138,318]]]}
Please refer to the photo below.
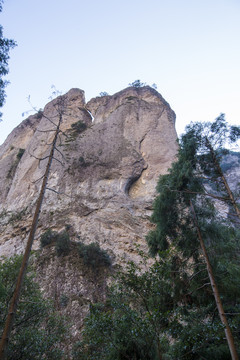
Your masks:
{"label": "tall bare leaning trunk with dead branches before the cliff, left", "polygon": [[37,224],[38,224],[38,218],[39,218],[39,214],[40,214],[41,207],[42,207],[42,202],[43,202],[43,198],[44,198],[44,194],[45,194],[45,190],[46,190],[46,186],[47,186],[49,172],[50,172],[50,169],[51,169],[51,164],[52,164],[52,160],[53,160],[53,155],[54,155],[54,150],[55,150],[58,134],[60,132],[61,122],[62,122],[62,112],[59,114],[59,122],[58,122],[58,125],[57,125],[57,128],[56,128],[56,132],[55,132],[55,135],[54,135],[53,142],[52,142],[52,147],[51,147],[51,151],[50,151],[50,154],[49,154],[45,174],[44,174],[44,177],[43,177],[41,191],[40,191],[40,194],[39,194],[39,197],[38,197],[38,200],[37,200],[36,210],[35,210],[35,213],[34,213],[32,226],[31,226],[31,229],[30,229],[27,245],[26,245],[26,248],[25,248],[25,253],[24,253],[24,256],[23,256],[23,260],[22,260],[22,265],[21,265],[21,268],[19,270],[19,274],[18,274],[18,278],[17,278],[17,282],[16,282],[16,287],[15,287],[13,297],[12,297],[12,300],[11,300],[11,303],[10,303],[7,319],[6,319],[6,322],[5,322],[5,327],[4,327],[4,330],[3,330],[3,335],[2,335],[2,338],[1,338],[1,342],[0,342],[0,359],[1,360],[7,359],[7,348],[8,348],[10,333],[11,333],[11,330],[12,330],[14,316],[16,314],[16,310],[17,310],[17,306],[18,306],[18,301],[19,301],[19,297],[20,297],[20,292],[21,292],[24,276],[25,276],[25,273],[26,273],[26,270],[27,270],[28,260],[29,260],[29,256],[30,256],[30,252],[31,252],[31,248],[32,248],[32,244],[33,244]]}

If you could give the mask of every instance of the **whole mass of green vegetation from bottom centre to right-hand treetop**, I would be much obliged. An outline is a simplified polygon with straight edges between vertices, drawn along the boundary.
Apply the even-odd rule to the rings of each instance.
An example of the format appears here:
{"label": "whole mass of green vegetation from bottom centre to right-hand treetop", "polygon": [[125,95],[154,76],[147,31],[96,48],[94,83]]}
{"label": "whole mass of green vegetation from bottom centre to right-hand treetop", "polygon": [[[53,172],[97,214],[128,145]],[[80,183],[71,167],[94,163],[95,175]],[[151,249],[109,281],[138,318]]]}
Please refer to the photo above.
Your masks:
{"label": "whole mass of green vegetation from bottom centre to right-hand treetop", "polygon": [[[107,301],[91,307],[75,359],[231,358],[199,234],[240,349],[239,207],[220,166],[224,146],[239,137],[223,115],[186,129],[178,161],[157,187],[156,228],[147,237],[155,263],[118,273]],[[218,211],[216,200],[234,216]]]}

